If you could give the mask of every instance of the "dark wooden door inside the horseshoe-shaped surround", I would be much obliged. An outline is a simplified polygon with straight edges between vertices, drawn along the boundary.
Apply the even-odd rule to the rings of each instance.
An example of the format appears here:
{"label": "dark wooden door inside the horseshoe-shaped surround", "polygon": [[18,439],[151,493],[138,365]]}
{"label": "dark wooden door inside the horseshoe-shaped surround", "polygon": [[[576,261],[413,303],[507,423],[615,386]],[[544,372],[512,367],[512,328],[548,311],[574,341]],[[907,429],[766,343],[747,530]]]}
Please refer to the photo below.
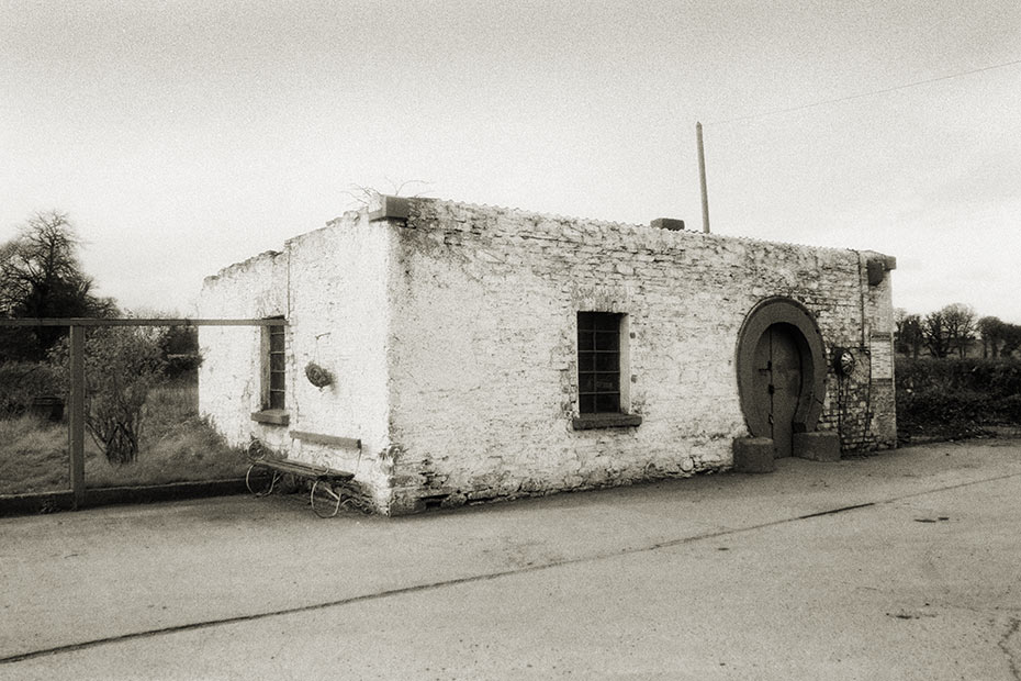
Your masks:
{"label": "dark wooden door inside the horseshoe-shaped surround", "polygon": [[773,324],[755,347],[755,401],[766,416],[776,457],[790,456],[794,415],[804,388],[796,334],[789,324]]}

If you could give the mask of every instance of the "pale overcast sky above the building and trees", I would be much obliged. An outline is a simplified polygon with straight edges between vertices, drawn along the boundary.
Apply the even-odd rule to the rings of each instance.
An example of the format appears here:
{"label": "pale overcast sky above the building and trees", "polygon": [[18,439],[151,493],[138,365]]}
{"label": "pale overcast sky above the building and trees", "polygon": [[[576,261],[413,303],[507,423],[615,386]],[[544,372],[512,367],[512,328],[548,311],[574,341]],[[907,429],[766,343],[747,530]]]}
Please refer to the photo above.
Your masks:
{"label": "pale overcast sky above the building and trees", "polygon": [[697,121],[713,232],[1021,323],[1016,0],[0,0],[0,243],[189,315],[361,187],[699,230]]}

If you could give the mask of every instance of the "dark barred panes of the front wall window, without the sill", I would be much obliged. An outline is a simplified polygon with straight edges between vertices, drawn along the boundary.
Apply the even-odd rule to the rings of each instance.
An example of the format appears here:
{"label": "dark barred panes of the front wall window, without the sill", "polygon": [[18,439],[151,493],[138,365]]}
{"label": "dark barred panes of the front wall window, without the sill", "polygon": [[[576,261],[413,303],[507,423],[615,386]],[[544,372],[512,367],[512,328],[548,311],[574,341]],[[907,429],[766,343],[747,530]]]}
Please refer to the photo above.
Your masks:
{"label": "dark barred panes of the front wall window, without the sill", "polygon": [[620,413],[620,314],[577,313],[577,411]]}

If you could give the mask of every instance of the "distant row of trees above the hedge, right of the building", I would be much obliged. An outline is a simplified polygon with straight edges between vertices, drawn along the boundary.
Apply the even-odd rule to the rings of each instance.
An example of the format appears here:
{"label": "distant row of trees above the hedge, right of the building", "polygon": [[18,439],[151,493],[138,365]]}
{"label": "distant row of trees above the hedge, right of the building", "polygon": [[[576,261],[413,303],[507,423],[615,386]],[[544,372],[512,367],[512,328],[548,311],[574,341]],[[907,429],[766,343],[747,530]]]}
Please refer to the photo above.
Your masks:
{"label": "distant row of trees above the hedge, right of the building", "polygon": [[897,309],[895,348],[918,358],[922,350],[932,357],[1012,357],[1021,348],[1021,325],[995,316],[979,317],[973,308],[952,303],[924,316]]}

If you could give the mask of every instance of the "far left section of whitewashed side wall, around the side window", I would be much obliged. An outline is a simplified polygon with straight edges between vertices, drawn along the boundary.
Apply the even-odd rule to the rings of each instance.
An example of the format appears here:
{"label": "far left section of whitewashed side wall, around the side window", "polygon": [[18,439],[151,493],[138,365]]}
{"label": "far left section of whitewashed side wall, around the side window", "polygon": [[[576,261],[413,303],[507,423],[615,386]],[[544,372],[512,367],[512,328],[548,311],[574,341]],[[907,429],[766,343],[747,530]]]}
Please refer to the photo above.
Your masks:
{"label": "far left section of whitewashed side wall, around the side window", "polygon": [[[262,319],[287,315],[288,256],[267,252],[207,277],[199,298],[206,319]],[[287,431],[251,421],[261,409],[262,330],[257,326],[200,326],[199,411],[210,417],[233,446],[250,436],[273,448],[290,444]],[[290,338],[287,342],[290,344]],[[288,377],[291,371],[288,367]],[[290,386],[289,386],[290,389]]]}

